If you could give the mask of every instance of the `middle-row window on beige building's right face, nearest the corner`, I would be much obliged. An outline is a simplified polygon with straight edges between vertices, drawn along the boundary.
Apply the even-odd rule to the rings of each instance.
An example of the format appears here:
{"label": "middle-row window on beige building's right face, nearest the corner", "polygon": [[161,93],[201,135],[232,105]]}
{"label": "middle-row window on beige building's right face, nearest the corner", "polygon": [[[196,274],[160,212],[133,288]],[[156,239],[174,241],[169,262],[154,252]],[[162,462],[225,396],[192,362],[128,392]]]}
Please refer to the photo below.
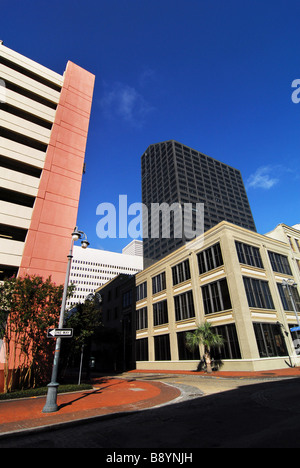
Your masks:
{"label": "middle-row window on beige building's right face, nearest the corner", "polygon": [[249,307],[258,309],[274,309],[269,283],[267,281],[244,277]]}

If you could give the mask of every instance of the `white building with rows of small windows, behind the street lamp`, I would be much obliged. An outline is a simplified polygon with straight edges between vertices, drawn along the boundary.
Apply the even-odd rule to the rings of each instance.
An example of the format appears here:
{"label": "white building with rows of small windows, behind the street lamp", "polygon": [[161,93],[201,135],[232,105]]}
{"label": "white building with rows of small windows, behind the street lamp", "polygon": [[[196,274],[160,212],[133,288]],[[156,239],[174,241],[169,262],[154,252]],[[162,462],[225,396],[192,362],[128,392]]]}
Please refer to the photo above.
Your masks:
{"label": "white building with rows of small windows, behind the street lamp", "polygon": [[[130,245],[130,244],[129,244]],[[126,250],[126,249],[124,249]],[[70,284],[76,286],[74,295],[67,302],[72,307],[84,302],[89,294],[120,274],[135,275],[143,269],[143,257],[99,249],[74,246]]]}

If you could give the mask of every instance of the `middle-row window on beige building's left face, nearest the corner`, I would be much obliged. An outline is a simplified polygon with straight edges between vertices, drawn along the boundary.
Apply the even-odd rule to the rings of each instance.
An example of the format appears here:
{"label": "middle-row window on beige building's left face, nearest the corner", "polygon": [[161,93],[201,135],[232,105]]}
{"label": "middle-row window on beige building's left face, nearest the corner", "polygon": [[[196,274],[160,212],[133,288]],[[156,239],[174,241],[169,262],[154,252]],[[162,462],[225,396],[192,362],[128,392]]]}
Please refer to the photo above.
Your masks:
{"label": "middle-row window on beige building's left face, nearest the corner", "polygon": [[202,287],[205,315],[232,309],[226,278]]}

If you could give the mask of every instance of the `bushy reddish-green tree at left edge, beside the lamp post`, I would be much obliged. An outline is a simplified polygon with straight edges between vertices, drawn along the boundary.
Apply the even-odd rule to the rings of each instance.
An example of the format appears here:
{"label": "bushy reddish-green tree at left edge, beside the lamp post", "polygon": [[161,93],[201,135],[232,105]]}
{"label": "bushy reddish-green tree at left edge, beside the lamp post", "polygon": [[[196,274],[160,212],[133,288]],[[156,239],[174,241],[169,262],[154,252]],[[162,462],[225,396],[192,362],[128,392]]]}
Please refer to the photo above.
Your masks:
{"label": "bushy reddish-green tree at left edge, beside the lamp post", "polygon": [[0,339],[5,349],[4,391],[37,386],[49,378],[53,343],[47,328],[57,325],[63,286],[40,276],[11,278],[0,285]]}

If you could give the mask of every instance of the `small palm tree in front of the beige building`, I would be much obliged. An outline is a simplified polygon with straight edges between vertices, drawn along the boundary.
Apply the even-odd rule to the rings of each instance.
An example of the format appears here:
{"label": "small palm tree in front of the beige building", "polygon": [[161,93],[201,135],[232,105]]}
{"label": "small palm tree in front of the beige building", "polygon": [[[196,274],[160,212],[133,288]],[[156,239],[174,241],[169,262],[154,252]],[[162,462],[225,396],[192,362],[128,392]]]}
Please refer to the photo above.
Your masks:
{"label": "small palm tree in front of the beige building", "polygon": [[199,346],[204,346],[204,359],[208,373],[212,373],[211,367],[211,349],[223,346],[224,338],[213,332],[210,323],[205,322],[200,325],[194,332],[187,333],[186,346],[189,350],[193,351]]}

